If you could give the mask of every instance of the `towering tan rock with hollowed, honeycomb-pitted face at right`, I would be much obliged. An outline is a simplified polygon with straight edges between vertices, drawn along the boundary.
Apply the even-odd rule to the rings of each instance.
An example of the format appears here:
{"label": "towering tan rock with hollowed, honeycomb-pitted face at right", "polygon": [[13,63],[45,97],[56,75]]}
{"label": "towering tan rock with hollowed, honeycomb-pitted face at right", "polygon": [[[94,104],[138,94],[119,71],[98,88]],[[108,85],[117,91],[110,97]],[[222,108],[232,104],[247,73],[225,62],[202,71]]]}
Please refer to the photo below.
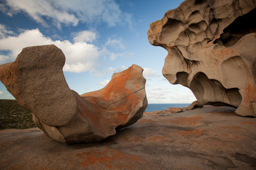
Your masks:
{"label": "towering tan rock with hollowed, honeycomb-pitted face at right", "polygon": [[168,51],[163,75],[204,105],[256,113],[255,1],[187,0],[150,24],[150,44]]}

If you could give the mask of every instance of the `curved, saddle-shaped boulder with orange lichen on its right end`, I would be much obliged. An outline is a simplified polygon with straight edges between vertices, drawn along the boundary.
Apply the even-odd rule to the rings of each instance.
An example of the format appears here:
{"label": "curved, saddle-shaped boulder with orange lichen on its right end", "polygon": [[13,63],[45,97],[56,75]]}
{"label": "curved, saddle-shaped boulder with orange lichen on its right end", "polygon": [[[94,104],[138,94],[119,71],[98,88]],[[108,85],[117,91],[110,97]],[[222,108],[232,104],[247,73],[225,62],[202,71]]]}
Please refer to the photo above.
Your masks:
{"label": "curved, saddle-shaped boulder with orange lichen on its right end", "polygon": [[79,95],[63,75],[65,56],[55,45],[24,48],[0,65],[0,79],[18,103],[30,109],[44,134],[59,142],[98,142],[143,116],[147,98],[143,69],[115,73],[101,90]]}

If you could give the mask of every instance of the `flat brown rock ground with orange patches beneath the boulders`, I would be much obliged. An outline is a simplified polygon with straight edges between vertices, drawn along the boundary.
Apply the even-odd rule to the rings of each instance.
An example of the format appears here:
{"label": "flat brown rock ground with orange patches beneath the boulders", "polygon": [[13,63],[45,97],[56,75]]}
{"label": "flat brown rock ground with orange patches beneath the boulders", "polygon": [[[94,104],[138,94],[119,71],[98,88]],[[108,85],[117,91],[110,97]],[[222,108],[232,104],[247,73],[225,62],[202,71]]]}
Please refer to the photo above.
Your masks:
{"label": "flat brown rock ground with orange patches beneath the boulders", "polygon": [[256,119],[233,111],[147,112],[99,143],[59,143],[38,128],[1,130],[0,169],[256,169]]}

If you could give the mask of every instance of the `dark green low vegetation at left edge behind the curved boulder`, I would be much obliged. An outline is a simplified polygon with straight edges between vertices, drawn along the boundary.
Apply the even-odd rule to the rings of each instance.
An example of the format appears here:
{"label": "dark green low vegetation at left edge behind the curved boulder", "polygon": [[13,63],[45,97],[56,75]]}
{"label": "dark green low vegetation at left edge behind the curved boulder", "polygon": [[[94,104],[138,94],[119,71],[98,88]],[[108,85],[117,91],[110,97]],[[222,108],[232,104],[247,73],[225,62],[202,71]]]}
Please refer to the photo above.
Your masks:
{"label": "dark green low vegetation at left edge behind the curved boulder", "polygon": [[16,100],[0,100],[0,123],[2,130],[36,127],[31,112]]}

